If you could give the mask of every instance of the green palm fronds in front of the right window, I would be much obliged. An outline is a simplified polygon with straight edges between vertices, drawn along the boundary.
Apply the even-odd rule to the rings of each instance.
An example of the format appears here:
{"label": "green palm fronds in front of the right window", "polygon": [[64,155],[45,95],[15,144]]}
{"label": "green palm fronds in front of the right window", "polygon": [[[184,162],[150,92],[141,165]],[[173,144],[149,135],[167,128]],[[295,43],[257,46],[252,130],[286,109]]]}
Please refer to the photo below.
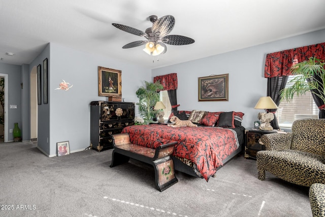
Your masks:
{"label": "green palm fronds in front of the right window", "polygon": [[[297,96],[305,94],[307,91],[311,91],[323,102],[325,102],[325,69],[324,60],[317,59],[316,57],[310,57],[308,60],[302,61],[291,68],[291,73],[296,76],[290,81],[292,84],[280,90],[281,100],[285,99],[290,101]],[[307,82],[306,82],[307,81]]]}

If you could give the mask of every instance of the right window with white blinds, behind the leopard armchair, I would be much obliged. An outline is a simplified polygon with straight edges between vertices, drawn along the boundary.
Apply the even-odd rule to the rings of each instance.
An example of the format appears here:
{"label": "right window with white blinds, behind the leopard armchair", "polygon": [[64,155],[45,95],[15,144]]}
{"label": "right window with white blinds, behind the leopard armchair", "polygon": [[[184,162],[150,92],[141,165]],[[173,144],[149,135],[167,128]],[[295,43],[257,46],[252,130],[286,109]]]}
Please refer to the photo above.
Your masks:
{"label": "right window with white blinds, behind the leopard armchair", "polygon": [[[291,75],[288,78],[285,87],[290,86],[290,80],[294,78]],[[276,112],[278,123],[280,128],[291,128],[292,123],[297,119],[317,119],[318,118],[318,107],[315,104],[311,92],[306,92],[305,95],[297,97],[294,96],[293,100],[287,102],[283,100],[280,102]]]}

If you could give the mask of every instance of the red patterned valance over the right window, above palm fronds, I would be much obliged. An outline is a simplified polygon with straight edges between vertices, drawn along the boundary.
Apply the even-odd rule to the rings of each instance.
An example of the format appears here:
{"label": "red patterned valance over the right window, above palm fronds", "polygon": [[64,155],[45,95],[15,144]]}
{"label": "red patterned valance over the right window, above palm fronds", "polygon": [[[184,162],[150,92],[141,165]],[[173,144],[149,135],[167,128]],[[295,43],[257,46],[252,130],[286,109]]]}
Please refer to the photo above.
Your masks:
{"label": "red patterned valance over the right window, above palm fronds", "polygon": [[265,59],[264,77],[291,75],[290,68],[294,63],[300,63],[314,56],[317,59],[325,59],[325,43],[269,53]]}

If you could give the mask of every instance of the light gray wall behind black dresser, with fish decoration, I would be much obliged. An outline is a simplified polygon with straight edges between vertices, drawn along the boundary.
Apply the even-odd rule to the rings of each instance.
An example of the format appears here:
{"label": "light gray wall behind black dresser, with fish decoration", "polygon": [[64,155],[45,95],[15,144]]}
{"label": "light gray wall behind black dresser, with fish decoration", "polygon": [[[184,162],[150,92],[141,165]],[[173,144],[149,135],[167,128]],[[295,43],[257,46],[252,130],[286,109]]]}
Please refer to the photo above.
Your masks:
{"label": "light gray wall behind black dresser, with fish decoration", "polygon": [[[122,97],[125,102],[138,102],[136,90],[143,84],[143,80],[151,79],[150,69],[58,44],[50,44],[50,57],[50,133],[38,134],[39,141],[43,143],[50,137],[50,156],[56,154],[57,142],[69,141],[72,151],[83,150],[90,145],[89,103],[108,100],[107,97],[98,96],[98,66],[122,71]],[[73,87],[68,91],[55,90],[62,79]],[[48,118],[43,114],[39,117]]]}

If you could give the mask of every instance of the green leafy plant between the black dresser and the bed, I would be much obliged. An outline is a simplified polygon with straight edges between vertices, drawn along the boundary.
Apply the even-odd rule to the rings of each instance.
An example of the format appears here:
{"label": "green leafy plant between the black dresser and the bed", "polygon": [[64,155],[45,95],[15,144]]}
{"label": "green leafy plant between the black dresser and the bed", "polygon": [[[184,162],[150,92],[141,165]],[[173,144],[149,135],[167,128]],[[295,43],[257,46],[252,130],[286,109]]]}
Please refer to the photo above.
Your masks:
{"label": "green leafy plant between the black dresser and the bed", "polygon": [[136,95],[139,98],[139,113],[143,117],[145,123],[149,124],[152,118],[155,116],[156,111],[153,110],[156,102],[159,101],[159,93],[157,91],[162,90],[164,87],[159,81],[155,83],[144,81],[145,87],[141,86]]}

